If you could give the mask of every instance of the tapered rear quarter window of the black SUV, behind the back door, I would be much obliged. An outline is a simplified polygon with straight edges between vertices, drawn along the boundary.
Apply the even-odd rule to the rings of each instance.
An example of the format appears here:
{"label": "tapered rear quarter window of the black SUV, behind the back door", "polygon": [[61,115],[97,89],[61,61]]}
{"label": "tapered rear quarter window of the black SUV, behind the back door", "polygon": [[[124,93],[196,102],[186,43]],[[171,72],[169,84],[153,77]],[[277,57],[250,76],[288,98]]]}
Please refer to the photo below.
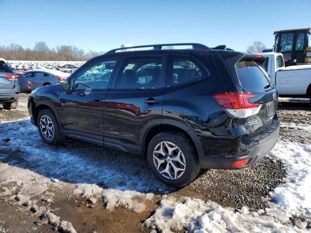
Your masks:
{"label": "tapered rear quarter window of the black SUV, behind the back door", "polygon": [[173,56],[170,61],[167,86],[192,83],[207,78],[207,70],[188,56]]}

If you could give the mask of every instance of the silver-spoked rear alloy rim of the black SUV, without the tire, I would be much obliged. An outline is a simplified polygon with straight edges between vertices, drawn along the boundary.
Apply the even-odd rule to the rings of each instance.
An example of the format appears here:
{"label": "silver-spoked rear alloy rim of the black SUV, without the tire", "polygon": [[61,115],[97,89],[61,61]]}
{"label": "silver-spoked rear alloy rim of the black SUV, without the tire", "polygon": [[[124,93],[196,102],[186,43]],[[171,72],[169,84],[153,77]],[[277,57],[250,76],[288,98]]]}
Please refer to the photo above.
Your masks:
{"label": "silver-spoked rear alloy rim of the black SUV, without the tire", "polygon": [[163,141],[155,146],[153,161],[157,171],[167,179],[180,178],[186,169],[183,152],[172,142]]}

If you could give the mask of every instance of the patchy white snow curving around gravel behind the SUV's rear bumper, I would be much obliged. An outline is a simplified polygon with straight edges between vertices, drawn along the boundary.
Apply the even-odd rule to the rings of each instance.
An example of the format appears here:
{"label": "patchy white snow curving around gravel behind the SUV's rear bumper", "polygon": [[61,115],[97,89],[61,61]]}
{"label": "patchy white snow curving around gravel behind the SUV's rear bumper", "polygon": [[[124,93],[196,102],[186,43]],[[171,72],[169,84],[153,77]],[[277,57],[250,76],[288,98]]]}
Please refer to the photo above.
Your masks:
{"label": "patchy white snow curving around gravel behind the SUV's rear bumper", "polygon": [[217,203],[184,198],[161,200],[148,227],[164,233],[187,229],[194,233],[222,232],[307,232],[307,222],[290,223],[292,215],[311,216],[311,145],[277,142],[269,157],[286,164],[287,182],[277,186],[271,208],[251,212],[245,206],[238,212]]}

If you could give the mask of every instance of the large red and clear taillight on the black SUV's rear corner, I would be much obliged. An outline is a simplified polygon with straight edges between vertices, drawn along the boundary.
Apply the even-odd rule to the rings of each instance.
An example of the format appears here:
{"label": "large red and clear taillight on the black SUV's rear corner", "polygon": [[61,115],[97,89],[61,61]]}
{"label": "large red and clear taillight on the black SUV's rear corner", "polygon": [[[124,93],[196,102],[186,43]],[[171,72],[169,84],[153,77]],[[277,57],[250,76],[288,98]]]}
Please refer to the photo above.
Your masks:
{"label": "large red and clear taillight on the black SUV's rear corner", "polygon": [[216,102],[225,109],[229,115],[239,118],[254,116],[259,113],[261,104],[248,102],[248,99],[253,97],[256,96],[251,93],[243,92],[226,92],[214,95]]}

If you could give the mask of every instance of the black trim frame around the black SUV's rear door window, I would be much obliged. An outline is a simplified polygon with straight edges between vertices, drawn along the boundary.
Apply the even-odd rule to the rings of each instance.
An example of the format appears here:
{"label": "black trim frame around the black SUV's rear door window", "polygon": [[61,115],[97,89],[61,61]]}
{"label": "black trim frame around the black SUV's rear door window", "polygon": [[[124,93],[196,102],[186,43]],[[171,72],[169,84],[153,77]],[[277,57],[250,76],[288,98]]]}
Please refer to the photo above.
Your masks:
{"label": "black trim frame around the black SUV's rear door window", "polygon": [[[121,67],[123,65],[123,62],[124,62],[124,59],[125,58],[129,58],[129,57],[141,57],[141,58],[146,58],[146,57],[162,57],[162,69],[161,69],[161,73],[160,75],[163,74],[164,76],[164,86],[163,87],[157,87],[157,88],[116,88],[116,84],[117,84],[117,81],[118,81],[118,78],[119,78],[119,75],[121,72],[123,72],[123,70],[121,70]],[[114,80],[113,80],[113,83],[111,85],[111,89],[114,89],[114,90],[159,90],[159,89],[162,89],[162,88],[165,88],[165,84],[166,84],[166,67],[167,67],[167,60],[168,60],[168,57],[167,57],[167,54],[133,54],[133,55],[123,55],[121,60],[120,60],[120,63],[119,63],[119,67],[118,67],[118,72],[115,73],[115,76],[114,76]]]}

